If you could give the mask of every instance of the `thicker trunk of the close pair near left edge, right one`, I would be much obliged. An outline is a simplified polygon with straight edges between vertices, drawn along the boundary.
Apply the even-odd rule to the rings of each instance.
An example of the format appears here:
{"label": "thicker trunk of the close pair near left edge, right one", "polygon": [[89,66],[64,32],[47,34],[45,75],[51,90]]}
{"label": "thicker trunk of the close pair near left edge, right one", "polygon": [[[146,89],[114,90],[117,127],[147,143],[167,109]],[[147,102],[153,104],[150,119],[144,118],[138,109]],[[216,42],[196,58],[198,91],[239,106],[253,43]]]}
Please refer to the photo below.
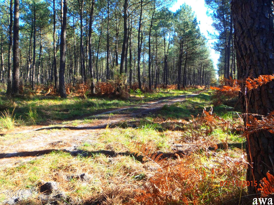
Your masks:
{"label": "thicker trunk of the close pair near left edge, right one", "polygon": [[14,0],[12,94],[19,94],[19,0]]}

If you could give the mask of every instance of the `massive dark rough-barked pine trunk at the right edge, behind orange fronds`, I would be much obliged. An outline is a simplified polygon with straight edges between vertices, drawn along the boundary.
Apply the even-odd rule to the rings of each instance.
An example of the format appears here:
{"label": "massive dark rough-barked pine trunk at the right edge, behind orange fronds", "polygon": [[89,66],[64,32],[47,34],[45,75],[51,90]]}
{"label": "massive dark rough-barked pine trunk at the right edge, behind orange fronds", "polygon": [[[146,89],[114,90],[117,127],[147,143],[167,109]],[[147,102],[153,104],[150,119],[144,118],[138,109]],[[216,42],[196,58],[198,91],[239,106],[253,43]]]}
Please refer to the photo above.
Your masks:
{"label": "massive dark rough-barked pine trunk at the right edge, behind orange fronds", "polygon": [[[235,30],[235,49],[238,74],[241,79],[248,76],[274,73],[274,28],[272,4],[269,0],[232,0],[232,16]],[[251,93],[242,108],[247,113],[267,115],[274,110],[274,82],[267,83]],[[246,93],[245,87],[242,92]],[[243,97],[242,97],[243,99]],[[246,119],[247,120],[247,119]],[[246,122],[245,122],[246,123]],[[272,171],[274,161],[274,134],[258,130],[247,137],[247,159],[250,166],[247,180],[259,180]],[[273,174],[273,171],[272,171]],[[255,194],[254,186],[248,187],[249,194]]]}

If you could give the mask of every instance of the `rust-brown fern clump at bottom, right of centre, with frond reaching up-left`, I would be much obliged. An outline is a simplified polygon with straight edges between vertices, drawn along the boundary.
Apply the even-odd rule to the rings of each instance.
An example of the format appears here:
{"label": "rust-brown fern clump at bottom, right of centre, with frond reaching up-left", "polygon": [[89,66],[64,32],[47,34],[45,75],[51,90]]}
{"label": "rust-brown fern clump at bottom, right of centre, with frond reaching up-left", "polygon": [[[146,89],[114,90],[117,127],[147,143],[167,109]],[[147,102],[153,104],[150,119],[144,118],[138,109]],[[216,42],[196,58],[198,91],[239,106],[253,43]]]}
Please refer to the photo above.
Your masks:
{"label": "rust-brown fern clump at bottom, right of centre, with frond reaching up-left", "polygon": [[161,159],[149,145],[133,142],[131,152],[143,156],[149,161],[156,163],[159,169],[154,176],[149,178],[142,189],[135,190],[137,193],[128,204],[195,204],[199,195],[199,183],[202,175],[196,169],[185,166],[182,159]]}

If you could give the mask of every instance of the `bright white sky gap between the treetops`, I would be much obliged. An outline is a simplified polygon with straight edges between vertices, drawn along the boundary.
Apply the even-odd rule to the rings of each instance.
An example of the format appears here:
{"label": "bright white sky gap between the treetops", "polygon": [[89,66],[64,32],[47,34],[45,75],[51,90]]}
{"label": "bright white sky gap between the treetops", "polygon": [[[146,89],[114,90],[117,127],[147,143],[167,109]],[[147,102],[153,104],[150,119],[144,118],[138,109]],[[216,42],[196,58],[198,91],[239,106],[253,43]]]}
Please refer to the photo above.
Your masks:
{"label": "bright white sky gap between the treetops", "polygon": [[[207,39],[209,39],[207,40],[207,43],[211,51],[210,54],[214,62],[214,67],[217,70],[219,54],[212,48],[213,47],[212,43],[214,43],[217,40],[216,39],[210,40],[212,37],[210,37],[207,32],[209,31],[210,33],[214,33],[215,29],[212,27],[212,23],[213,23],[212,18],[210,16],[207,16],[206,14],[207,11],[209,10],[205,5],[205,1],[204,0],[177,0],[175,4],[173,4],[173,6],[169,8],[169,10],[175,12],[184,3],[189,5],[192,8],[192,11],[195,12],[195,15],[197,16],[197,21],[200,22],[199,27],[200,27],[201,33],[204,34],[204,36],[206,36]],[[217,32],[215,31],[215,33]]]}

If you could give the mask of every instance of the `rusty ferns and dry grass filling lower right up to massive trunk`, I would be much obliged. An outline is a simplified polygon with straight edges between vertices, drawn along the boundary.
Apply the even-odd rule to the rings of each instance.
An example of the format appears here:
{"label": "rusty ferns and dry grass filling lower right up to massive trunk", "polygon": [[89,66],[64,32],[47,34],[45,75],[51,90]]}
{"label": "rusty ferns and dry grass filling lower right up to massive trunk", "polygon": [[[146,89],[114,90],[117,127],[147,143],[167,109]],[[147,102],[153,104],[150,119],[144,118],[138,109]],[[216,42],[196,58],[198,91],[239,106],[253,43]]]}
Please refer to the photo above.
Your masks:
{"label": "rusty ferns and dry grass filling lower right up to massive trunk", "polygon": [[245,193],[244,187],[219,185],[224,180],[243,180],[247,167],[244,156],[231,157],[228,151],[210,157],[176,154],[177,159],[172,160],[162,158],[149,144],[140,142],[133,143],[131,152],[153,162],[158,169],[143,182],[142,188],[134,190],[135,197],[127,204],[217,205]]}

